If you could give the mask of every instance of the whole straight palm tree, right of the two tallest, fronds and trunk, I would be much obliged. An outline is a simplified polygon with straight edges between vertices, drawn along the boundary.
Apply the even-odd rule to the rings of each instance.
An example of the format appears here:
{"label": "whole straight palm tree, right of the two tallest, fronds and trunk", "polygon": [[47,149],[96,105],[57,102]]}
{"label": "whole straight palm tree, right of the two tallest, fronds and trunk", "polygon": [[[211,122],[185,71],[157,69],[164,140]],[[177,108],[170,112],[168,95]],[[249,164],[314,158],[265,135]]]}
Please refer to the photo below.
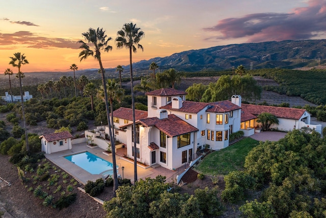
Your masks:
{"label": "whole straight palm tree, right of the two tallest, fronds and trunk", "polygon": [[[133,93],[133,78],[132,78],[132,52],[137,53],[137,48],[144,51],[144,48],[139,44],[140,40],[145,36],[144,32],[137,28],[132,22],[125,23],[121,30],[118,31],[116,44],[118,49],[125,47],[129,49],[130,60],[130,86],[131,86],[131,106],[132,106],[132,127],[133,127],[133,147],[134,147],[134,182],[137,182],[137,149],[136,149],[136,126],[134,115],[134,93]],[[137,47],[136,47],[137,46]]]}

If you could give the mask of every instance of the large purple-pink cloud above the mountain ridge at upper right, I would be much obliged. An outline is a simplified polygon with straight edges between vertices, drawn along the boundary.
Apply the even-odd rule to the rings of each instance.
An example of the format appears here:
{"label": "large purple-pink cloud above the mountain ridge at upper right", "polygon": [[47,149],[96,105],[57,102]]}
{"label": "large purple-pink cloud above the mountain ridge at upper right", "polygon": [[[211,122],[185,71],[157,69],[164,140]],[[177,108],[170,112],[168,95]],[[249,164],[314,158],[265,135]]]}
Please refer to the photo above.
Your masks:
{"label": "large purple-pink cloud above the mountain ridge at upper right", "polygon": [[216,39],[247,37],[248,42],[310,39],[326,31],[326,1],[310,0],[292,13],[256,13],[220,20],[205,31],[218,32]]}

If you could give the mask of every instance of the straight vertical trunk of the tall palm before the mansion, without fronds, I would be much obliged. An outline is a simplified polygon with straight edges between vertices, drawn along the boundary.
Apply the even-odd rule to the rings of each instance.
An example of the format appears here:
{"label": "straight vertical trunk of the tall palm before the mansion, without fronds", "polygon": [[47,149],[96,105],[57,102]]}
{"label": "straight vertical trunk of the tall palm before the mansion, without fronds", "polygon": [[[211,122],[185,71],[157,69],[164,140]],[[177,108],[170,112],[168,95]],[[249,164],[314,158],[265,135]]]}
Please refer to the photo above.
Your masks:
{"label": "straight vertical trunk of the tall palm before the mansion, without fronds", "polygon": [[137,182],[137,147],[136,147],[136,124],[134,115],[134,93],[133,93],[133,78],[132,78],[132,52],[131,47],[129,47],[130,55],[130,86],[131,86],[131,108],[132,108],[132,131],[133,131],[133,176],[134,183]]}

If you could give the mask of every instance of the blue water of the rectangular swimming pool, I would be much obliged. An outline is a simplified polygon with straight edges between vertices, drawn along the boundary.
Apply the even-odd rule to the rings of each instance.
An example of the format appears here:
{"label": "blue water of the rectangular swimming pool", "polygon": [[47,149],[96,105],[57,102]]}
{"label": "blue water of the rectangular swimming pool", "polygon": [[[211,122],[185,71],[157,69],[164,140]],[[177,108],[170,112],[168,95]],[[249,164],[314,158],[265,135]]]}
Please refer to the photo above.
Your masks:
{"label": "blue water of the rectangular swimming pool", "polygon": [[113,174],[113,164],[92,153],[84,152],[65,158],[91,174]]}

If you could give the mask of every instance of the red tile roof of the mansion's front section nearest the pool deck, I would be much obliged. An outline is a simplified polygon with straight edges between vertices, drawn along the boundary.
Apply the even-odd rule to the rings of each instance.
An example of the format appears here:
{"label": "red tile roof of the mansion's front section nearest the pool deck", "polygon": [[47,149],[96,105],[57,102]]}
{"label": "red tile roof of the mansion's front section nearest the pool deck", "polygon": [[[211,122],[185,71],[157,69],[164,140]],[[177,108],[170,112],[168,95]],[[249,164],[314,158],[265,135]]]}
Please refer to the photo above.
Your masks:
{"label": "red tile roof of the mansion's front section nearest the pool deck", "polygon": [[168,118],[165,119],[151,117],[141,119],[140,122],[146,127],[154,126],[170,137],[198,131],[196,127],[188,124],[174,114],[170,114]]}

